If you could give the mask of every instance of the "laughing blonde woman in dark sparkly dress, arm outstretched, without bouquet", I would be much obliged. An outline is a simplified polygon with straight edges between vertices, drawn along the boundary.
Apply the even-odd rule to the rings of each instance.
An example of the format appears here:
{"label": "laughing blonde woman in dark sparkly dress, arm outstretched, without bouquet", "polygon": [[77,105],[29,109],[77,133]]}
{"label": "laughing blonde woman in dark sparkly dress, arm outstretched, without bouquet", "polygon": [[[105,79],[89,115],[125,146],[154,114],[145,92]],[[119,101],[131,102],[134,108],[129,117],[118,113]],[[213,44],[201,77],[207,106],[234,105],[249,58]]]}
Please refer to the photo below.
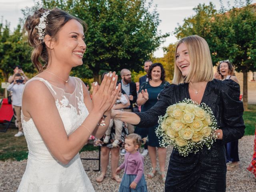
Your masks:
{"label": "laughing blonde woman in dark sparkly dress, arm outstretched, without bouquet", "polygon": [[210,150],[206,146],[196,154],[181,156],[173,150],[165,182],[166,192],[224,192],[226,190],[225,143],[244,135],[243,104],[239,85],[232,81],[213,79],[213,68],[207,42],[199,36],[180,40],[175,51],[174,84],[158,96],[148,111],[128,113],[112,111],[111,116],[139,127],[157,124],[172,104],[192,99],[208,105],[220,129]]}

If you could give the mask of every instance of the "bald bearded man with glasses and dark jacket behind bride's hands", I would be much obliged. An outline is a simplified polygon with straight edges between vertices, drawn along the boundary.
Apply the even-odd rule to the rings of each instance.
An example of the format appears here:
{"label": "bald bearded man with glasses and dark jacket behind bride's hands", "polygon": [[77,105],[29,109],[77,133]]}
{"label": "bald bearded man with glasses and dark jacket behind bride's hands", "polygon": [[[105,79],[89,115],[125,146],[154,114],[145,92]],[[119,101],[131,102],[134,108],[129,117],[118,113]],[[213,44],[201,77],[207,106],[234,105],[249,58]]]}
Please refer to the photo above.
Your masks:
{"label": "bald bearded man with glasses and dark jacket behind bride's hands", "polygon": [[[124,108],[124,111],[127,112],[133,112],[133,107],[132,105],[136,102],[137,100],[137,91],[136,91],[136,84],[132,82],[132,74],[130,70],[128,69],[122,69],[120,72],[120,76],[122,78],[121,81],[118,83],[121,83],[121,88],[124,90],[126,95],[128,96],[130,100],[130,106],[128,108]],[[128,132],[129,134],[134,132],[134,126],[131,124],[127,124]],[[121,155],[124,155],[125,151]]]}

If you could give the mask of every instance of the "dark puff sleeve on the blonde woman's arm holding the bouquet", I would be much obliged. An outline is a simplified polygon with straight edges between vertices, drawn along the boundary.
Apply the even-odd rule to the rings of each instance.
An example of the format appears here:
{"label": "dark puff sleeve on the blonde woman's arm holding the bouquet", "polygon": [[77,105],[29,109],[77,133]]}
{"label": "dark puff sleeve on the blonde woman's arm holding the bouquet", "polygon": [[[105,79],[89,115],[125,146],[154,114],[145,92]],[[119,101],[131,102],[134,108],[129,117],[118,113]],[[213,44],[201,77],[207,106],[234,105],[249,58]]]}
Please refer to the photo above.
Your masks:
{"label": "dark puff sleeve on the blonde woman's arm holding the bouquet", "polygon": [[233,80],[224,80],[220,87],[222,99],[223,132],[222,144],[238,140],[244,135],[244,107],[239,100],[240,86]]}

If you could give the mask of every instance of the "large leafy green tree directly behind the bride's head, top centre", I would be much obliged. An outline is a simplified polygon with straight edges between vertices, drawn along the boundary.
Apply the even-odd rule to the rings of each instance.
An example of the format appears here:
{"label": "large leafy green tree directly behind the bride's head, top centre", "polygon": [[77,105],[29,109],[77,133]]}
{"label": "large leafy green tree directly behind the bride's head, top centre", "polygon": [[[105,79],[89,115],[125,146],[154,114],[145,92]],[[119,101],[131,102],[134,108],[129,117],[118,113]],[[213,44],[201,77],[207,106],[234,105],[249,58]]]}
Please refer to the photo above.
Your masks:
{"label": "large leafy green tree directly behind the bride's head, top centre", "polygon": [[[58,7],[88,24],[84,64],[79,71],[128,68],[136,72],[168,34],[159,34],[156,10],[146,0],[42,0],[46,8]],[[76,72],[79,72],[76,70]],[[89,73],[90,74],[90,73]]]}

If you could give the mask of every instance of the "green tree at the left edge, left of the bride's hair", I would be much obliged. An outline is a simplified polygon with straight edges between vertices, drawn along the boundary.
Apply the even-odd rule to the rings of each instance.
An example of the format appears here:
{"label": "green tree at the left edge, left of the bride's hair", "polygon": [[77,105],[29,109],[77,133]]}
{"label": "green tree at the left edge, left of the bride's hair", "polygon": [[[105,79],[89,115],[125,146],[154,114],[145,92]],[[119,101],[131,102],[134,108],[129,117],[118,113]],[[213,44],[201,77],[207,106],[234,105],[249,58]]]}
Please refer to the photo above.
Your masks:
{"label": "green tree at the left edge, left of the bride's hair", "polygon": [[7,82],[15,65],[22,66],[25,72],[34,72],[29,50],[30,48],[22,38],[20,24],[11,33],[7,21],[6,24],[0,23],[0,70],[2,70],[4,81]]}

